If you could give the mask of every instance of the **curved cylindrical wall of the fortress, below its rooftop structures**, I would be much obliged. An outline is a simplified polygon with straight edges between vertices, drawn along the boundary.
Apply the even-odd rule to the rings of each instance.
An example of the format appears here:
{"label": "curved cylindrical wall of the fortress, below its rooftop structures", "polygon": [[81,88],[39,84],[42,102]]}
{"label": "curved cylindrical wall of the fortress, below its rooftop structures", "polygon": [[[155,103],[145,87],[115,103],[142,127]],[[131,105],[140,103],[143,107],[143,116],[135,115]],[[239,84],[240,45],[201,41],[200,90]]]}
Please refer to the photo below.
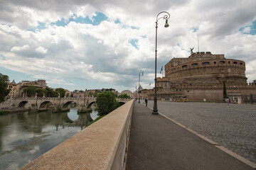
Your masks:
{"label": "curved cylindrical wall of the fortress, below its rooftop structures", "polygon": [[[186,62],[174,67],[166,64],[166,78],[171,82],[212,79],[209,84],[219,84],[222,79],[227,83],[245,84],[245,62],[240,60],[203,60],[200,62]],[[169,69],[168,69],[169,68]],[[195,82],[192,82],[195,84]]]}

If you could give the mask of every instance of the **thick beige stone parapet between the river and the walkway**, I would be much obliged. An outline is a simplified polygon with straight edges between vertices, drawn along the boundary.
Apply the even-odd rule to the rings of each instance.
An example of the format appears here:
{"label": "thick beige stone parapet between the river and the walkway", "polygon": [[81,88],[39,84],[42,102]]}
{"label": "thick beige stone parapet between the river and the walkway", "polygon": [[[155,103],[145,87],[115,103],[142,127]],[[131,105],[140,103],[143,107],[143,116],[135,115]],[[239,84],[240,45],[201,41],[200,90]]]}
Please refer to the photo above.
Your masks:
{"label": "thick beige stone parapet between the river and the walkway", "polygon": [[22,169],[125,169],[134,100],[50,149]]}

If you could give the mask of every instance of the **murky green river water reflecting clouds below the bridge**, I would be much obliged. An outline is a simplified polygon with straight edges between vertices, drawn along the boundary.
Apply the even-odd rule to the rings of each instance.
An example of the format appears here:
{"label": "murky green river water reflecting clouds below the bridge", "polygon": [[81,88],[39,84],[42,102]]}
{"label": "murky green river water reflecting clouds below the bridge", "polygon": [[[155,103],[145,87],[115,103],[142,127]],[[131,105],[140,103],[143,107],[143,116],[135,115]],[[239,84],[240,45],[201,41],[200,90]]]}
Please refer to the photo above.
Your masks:
{"label": "murky green river water reflecting clouds below the bridge", "polygon": [[[93,108],[93,107],[92,107]],[[19,169],[97,118],[97,111],[78,114],[78,108],[53,113],[9,113],[0,115],[0,169]]]}

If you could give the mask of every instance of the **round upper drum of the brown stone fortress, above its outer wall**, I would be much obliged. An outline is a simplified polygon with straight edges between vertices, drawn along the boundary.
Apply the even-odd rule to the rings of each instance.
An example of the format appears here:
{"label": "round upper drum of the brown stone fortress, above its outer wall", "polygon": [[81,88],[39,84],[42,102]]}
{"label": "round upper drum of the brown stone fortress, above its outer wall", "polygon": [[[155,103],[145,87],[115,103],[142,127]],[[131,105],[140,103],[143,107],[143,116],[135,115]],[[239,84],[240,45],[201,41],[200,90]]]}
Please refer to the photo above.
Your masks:
{"label": "round upper drum of the brown stone fortress, above its outer wall", "polygon": [[[212,55],[211,52],[191,52],[189,57],[173,58],[165,65],[165,75],[170,86],[223,84],[223,81],[226,84],[247,83],[245,62],[225,59],[224,55]],[[159,79],[159,83],[166,79]]]}

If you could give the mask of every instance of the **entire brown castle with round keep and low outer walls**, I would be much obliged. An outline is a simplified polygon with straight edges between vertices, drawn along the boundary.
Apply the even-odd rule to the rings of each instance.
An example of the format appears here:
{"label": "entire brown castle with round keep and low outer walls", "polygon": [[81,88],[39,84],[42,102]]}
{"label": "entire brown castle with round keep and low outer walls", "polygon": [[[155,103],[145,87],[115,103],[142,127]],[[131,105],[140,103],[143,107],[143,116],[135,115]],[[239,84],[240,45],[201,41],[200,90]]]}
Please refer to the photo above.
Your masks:
{"label": "entire brown castle with round keep and low outer walls", "polygon": [[[245,62],[226,59],[211,52],[192,52],[189,57],[173,58],[165,65],[165,77],[156,80],[157,99],[223,102],[227,96],[235,103],[256,101],[256,80],[247,84]],[[142,98],[154,98],[154,90],[142,91]]]}

